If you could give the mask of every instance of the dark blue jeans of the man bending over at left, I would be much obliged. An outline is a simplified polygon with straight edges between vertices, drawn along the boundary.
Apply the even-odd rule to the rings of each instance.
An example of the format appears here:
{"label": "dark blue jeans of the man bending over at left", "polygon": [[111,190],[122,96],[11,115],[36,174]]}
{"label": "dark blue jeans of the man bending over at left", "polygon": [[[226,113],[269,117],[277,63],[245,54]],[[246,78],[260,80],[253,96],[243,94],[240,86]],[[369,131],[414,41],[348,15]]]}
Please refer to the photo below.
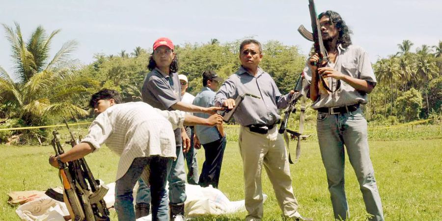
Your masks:
{"label": "dark blue jeans of the man bending over at left", "polygon": [[166,178],[172,165],[171,158],[160,156],[138,157],[123,177],[115,182],[115,210],[118,220],[135,221],[133,189],[143,170],[148,171],[152,194],[152,220],[168,221]]}

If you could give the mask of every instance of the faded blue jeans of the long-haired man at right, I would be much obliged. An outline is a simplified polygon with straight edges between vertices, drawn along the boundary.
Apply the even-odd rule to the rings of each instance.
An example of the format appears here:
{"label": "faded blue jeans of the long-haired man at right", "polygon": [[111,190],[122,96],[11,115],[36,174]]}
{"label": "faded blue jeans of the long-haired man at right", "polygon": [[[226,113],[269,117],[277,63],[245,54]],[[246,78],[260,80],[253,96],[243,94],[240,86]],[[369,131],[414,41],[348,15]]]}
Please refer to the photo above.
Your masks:
{"label": "faded blue jeans of the long-haired man at right", "polygon": [[317,132],[334,218],[345,220],[350,214],[344,190],[345,145],[358,178],[365,209],[373,216],[370,220],[383,221],[381,197],[368,150],[367,121],[362,111],[358,109],[344,114],[318,112]]}

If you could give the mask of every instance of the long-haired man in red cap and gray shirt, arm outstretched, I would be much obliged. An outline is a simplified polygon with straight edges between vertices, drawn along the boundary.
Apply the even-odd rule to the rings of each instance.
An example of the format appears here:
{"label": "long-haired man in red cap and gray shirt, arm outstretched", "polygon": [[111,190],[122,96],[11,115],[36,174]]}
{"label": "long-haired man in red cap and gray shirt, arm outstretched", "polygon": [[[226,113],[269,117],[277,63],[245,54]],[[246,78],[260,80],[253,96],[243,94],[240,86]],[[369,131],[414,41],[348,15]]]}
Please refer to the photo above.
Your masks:
{"label": "long-haired man in red cap and gray shirt, arm outstretched", "polygon": [[[181,101],[181,86],[177,74],[178,57],[170,39],[162,37],[154,42],[147,68],[150,72],[144,79],[141,94],[143,101],[152,107],[167,111],[179,110],[208,114],[213,114],[218,110],[215,107],[202,108]],[[180,220],[184,219],[184,201],[186,201],[183,151],[189,150],[190,139],[184,128],[178,128],[174,132],[177,159],[172,163],[167,181],[169,182],[170,218]],[[181,140],[184,141],[183,145]],[[162,203],[166,202],[167,199],[162,200]]]}

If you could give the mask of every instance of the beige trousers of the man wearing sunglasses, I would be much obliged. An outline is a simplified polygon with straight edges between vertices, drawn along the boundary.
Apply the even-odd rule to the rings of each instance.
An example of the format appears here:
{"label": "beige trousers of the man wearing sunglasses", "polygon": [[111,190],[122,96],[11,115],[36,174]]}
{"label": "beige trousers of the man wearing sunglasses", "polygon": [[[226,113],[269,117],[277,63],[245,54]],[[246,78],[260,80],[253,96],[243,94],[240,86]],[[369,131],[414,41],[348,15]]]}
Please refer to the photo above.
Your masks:
{"label": "beige trousers of the man wearing sunglasses", "polygon": [[268,134],[250,132],[241,126],[239,148],[243,159],[246,221],[260,221],[263,216],[263,196],[261,186],[262,166],[266,169],[273,185],[279,208],[285,217],[294,217],[298,201],[293,194],[287,150],[282,136],[274,127]]}

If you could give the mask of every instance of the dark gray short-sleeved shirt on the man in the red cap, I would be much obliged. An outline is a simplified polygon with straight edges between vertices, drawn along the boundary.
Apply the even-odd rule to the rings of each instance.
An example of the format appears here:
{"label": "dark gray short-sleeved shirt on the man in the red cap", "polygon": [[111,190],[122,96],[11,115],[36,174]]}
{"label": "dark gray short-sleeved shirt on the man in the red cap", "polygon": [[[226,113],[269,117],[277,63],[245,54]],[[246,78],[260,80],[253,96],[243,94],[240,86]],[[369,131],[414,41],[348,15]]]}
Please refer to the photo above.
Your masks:
{"label": "dark gray short-sleeved shirt on the man in the red cap", "polygon": [[[160,69],[155,68],[146,78],[141,88],[143,101],[160,110],[173,111],[172,105],[181,101],[181,85],[177,73],[164,76]],[[176,146],[181,146],[181,129],[175,131]]]}

